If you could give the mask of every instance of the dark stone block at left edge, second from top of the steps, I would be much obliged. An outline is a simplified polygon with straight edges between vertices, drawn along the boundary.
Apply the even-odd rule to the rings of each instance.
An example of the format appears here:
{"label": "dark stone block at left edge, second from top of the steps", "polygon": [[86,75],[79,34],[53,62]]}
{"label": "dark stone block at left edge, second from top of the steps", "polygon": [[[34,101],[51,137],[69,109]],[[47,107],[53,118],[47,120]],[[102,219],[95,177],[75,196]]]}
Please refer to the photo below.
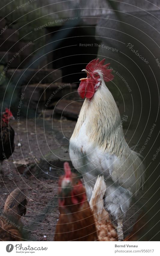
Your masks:
{"label": "dark stone block at left edge, second from top of the steps", "polygon": [[6,27],[7,26],[2,27],[0,25],[0,32],[2,33],[1,39],[7,39],[8,41],[17,42],[19,40],[19,32],[16,29]]}

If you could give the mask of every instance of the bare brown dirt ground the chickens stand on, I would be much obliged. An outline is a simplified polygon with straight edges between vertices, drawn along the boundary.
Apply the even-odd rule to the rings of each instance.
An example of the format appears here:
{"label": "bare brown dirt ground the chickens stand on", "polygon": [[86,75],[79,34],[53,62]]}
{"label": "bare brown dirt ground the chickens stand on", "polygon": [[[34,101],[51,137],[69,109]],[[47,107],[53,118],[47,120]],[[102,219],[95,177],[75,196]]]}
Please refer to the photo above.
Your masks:
{"label": "bare brown dirt ground the chickens stand on", "polygon": [[[22,119],[20,131],[17,131],[17,122],[11,122],[15,131],[15,150],[8,163],[13,172],[13,179],[8,179],[5,163],[2,165],[4,177],[0,183],[0,210],[3,211],[8,194],[15,188],[26,189],[27,211],[22,217],[26,240],[53,241],[56,223],[59,218],[57,200],[57,181],[63,173],[60,160],[69,159],[69,138],[74,130],[76,121],[45,117],[38,119]],[[126,130],[124,130],[124,133]],[[56,135],[56,137],[53,135]],[[125,134],[127,141],[133,131]],[[57,141],[56,141],[57,140]],[[133,146],[132,142],[130,146]],[[59,157],[59,161],[56,161]],[[22,176],[26,166],[28,173]],[[34,166],[35,164],[35,166]],[[143,192],[144,193],[144,192]],[[135,223],[140,208],[146,198],[143,193],[133,198],[131,207],[124,222],[124,235],[128,235]],[[138,202],[137,202],[138,201]]]}

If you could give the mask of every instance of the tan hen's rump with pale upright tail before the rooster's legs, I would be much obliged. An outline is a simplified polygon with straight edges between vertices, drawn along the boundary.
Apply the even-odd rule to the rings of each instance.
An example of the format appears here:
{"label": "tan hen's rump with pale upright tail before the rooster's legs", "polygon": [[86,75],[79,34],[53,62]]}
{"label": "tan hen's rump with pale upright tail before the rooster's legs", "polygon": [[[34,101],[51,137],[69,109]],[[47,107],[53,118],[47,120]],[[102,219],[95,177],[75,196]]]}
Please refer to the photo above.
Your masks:
{"label": "tan hen's rump with pale upright tail before the rooster's legs", "polygon": [[99,241],[118,241],[115,227],[110,221],[108,212],[104,209],[103,197],[105,191],[104,177],[98,176],[89,205],[95,219]]}

